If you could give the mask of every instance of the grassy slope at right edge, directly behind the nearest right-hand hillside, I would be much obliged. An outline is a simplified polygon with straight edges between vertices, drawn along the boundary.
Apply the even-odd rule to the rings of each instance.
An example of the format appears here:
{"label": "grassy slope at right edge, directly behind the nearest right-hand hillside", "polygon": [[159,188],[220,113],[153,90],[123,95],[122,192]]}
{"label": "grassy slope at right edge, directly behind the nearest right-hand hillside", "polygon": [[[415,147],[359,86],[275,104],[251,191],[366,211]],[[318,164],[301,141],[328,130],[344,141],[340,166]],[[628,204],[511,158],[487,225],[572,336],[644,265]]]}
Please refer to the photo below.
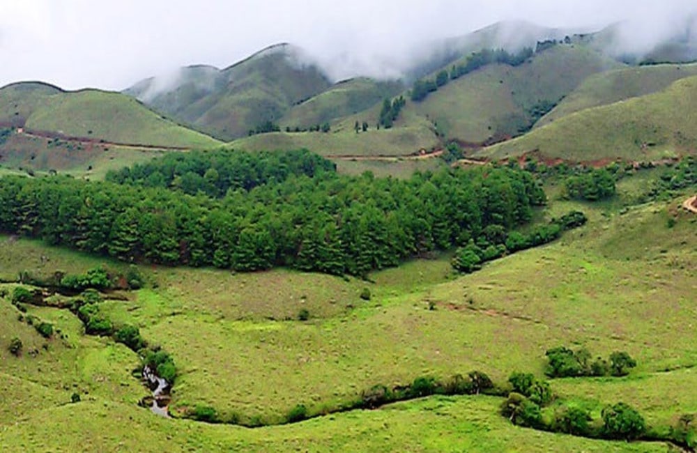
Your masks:
{"label": "grassy slope at right edge, directly behind the nearest right-hand hillside", "polygon": [[692,75],[697,75],[697,64],[640,66],[592,75],[541,118],[535,128],[583,109],[656,93],[668,88],[676,80]]}

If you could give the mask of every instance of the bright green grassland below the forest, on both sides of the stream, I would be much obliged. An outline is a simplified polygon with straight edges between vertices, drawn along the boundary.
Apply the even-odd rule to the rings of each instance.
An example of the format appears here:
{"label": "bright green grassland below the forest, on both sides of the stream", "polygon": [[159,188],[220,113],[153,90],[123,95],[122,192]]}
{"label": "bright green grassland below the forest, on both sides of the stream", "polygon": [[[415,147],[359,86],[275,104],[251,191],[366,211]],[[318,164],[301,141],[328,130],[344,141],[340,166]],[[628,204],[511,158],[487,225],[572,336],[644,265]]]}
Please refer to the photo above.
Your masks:
{"label": "bright green grassland below the forest, on both sides of the stream", "polygon": [[[503,383],[512,371],[542,376],[546,349],[565,345],[603,356],[628,351],[638,367],[621,379],[554,380],[556,394],[596,417],[606,404],[626,401],[667,429],[677,416],[697,412],[689,392],[697,384],[691,341],[697,217],[677,210],[682,195],[623,206],[658,174],[626,178],[619,201],[597,205],[556,200],[552,187],[551,205],[537,217],[580,208],[589,224],[464,277],[452,275],[447,255],[377,272],[372,282],[287,270],[144,267],[155,286],[100,307],[172,353],[180,372],[175,414],[206,405],[223,417],[279,422],[296,404],[321,412],[372,385],[417,376],[480,369]],[[20,270],[119,266],[38,241],[0,240],[3,278]],[[369,301],[358,297],[364,287],[372,292]],[[297,320],[303,308],[310,314],[304,322]],[[434,397],[263,429],[163,420],[135,405],[146,390],[130,376],[134,353],[109,339],[84,337],[69,312],[30,310],[67,338],[49,340],[43,349],[47,341],[0,300],[0,390],[12,401],[0,405],[0,443],[10,452],[666,451],[661,443],[519,429],[498,415],[502,400],[491,397]],[[5,344],[15,335],[25,351],[38,348],[38,356],[11,356]],[[66,404],[75,389],[83,401]]]}

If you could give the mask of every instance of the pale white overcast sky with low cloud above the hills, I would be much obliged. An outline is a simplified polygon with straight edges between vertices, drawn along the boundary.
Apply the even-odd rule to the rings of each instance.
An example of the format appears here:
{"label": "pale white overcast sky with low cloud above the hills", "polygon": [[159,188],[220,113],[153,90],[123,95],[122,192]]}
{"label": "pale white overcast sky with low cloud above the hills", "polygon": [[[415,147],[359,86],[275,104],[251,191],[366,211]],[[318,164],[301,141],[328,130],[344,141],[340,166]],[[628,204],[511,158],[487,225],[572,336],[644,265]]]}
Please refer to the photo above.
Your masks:
{"label": "pale white overcast sky with low cloud above the hills", "polygon": [[[229,66],[291,42],[366,63],[500,20],[671,31],[697,0],[0,0],[0,86],[124,89],[178,66]],[[358,65],[360,66],[360,64]]]}

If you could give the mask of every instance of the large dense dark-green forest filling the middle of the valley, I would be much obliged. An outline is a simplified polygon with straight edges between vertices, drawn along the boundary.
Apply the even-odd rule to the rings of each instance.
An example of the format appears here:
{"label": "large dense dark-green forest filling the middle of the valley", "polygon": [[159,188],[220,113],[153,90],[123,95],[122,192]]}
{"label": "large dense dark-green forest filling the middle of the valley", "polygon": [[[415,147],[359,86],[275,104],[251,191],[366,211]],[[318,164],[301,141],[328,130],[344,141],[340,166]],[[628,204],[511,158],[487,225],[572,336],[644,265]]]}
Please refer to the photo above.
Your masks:
{"label": "large dense dark-green forest filling the middle of the valley", "polygon": [[[410,256],[467,244],[492,226],[512,229],[530,220],[533,206],[545,201],[532,175],[507,168],[443,170],[401,181],[318,172],[331,164],[295,153],[296,160],[312,164],[312,171],[297,176],[288,169],[305,167],[293,160],[284,166],[285,179],[269,177],[254,187],[259,183],[254,178],[254,184],[220,178],[216,155],[192,153],[134,167],[119,173],[124,185],[63,176],[2,178],[0,231],[125,261],[240,271],[289,266],[363,276]],[[282,159],[248,158],[256,162],[253,168]],[[173,159],[181,169],[164,171]],[[215,171],[217,181],[224,182],[212,191],[184,190],[174,183],[182,171],[204,183]],[[142,187],[153,174],[160,175],[160,183]],[[225,195],[215,199],[207,192]]]}

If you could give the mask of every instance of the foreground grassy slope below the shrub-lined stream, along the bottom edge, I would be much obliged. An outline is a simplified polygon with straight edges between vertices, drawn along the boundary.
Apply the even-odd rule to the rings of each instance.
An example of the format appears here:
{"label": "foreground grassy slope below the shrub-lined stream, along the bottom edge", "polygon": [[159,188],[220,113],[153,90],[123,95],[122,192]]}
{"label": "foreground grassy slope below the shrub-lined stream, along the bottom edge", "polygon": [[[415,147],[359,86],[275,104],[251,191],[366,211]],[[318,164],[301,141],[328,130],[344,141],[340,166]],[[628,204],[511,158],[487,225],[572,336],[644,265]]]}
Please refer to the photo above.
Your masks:
{"label": "foreground grassy slope below the shrub-lined stream, along the bottom edge", "polygon": [[[498,399],[436,398],[261,430],[173,422],[96,400],[36,413],[0,431],[3,451],[54,452],[664,452],[660,444],[607,443],[520,429],[491,416]],[[90,420],[84,423],[84,420]],[[128,434],[123,431],[128,427]]]}

